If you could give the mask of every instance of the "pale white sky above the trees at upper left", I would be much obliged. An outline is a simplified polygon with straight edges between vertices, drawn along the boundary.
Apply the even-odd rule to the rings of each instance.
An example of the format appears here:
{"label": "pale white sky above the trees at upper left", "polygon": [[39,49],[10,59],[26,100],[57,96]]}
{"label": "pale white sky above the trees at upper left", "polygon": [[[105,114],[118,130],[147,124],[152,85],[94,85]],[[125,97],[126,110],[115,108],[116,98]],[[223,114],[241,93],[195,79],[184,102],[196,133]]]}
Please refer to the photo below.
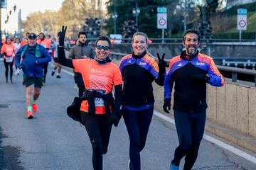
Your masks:
{"label": "pale white sky above the trees at upper left", "polygon": [[18,8],[21,8],[21,19],[26,20],[29,13],[60,9],[64,0],[12,0]]}

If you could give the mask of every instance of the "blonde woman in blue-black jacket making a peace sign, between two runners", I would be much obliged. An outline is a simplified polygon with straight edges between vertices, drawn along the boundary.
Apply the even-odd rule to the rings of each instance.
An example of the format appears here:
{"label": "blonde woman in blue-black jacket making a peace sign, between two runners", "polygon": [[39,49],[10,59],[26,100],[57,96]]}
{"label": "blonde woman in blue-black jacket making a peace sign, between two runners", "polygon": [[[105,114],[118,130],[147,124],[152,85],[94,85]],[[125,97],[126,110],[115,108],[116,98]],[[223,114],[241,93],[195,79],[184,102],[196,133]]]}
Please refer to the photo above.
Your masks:
{"label": "blonde woman in blue-black jacket making a peace sign, between two runners", "polygon": [[119,69],[124,81],[122,110],[124,123],[129,134],[129,169],[140,169],[139,152],[145,146],[146,136],[154,111],[152,82],[164,86],[164,55],[157,57],[159,62],[147,52],[148,38],[137,32],[132,38],[131,55],[122,57]]}

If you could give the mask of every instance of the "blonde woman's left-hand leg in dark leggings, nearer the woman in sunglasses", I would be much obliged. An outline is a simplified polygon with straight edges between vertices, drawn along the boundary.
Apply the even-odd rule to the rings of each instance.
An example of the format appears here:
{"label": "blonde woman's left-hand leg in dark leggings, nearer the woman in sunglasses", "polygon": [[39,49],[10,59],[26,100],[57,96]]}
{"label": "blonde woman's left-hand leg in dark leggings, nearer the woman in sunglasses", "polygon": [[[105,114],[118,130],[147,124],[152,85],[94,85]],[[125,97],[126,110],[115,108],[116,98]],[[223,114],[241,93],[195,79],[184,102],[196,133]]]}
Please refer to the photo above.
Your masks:
{"label": "blonde woman's left-hand leg in dark leggings, nearer the woman in sunglasses", "polygon": [[140,134],[139,134],[139,123],[137,111],[130,111],[126,108],[123,109],[124,123],[127,127],[129,134],[130,146],[129,146],[129,158],[130,158],[130,169],[140,169]]}

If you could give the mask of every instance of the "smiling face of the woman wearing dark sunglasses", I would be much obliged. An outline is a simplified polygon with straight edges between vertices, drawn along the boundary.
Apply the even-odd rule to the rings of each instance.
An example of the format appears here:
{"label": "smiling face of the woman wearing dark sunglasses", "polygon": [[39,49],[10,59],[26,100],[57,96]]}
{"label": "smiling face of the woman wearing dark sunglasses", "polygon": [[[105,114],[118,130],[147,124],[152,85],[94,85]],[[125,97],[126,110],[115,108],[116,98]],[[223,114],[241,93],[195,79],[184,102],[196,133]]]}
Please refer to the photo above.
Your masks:
{"label": "smiling face of the woman wearing dark sunglasses", "polygon": [[99,40],[95,46],[97,59],[105,60],[110,53],[110,44],[106,40]]}

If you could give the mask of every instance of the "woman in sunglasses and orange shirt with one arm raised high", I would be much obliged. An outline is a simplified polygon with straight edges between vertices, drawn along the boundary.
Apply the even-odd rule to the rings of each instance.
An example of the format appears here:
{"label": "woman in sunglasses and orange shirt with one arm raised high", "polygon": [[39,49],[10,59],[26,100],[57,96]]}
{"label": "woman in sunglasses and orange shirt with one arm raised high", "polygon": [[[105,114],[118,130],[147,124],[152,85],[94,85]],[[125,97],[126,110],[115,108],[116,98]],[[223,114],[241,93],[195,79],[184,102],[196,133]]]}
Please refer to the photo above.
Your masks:
{"label": "woman in sunglasses and orange shirt with one arm raised high", "polygon": [[[122,76],[117,67],[108,57],[110,39],[101,36],[95,43],[95,60],[65,58],[64,39],[67,27],[58,33],[58,60],[60,64],[75,69],[82,74],[85,83],[85,94],[82,96],[80,118],[85,125],[92,144],[92,165],[95,170],[102,170],[102,154],[107,153],[112,123],[118,125],[119,108],[122,103]],[[112,89],[115,90],[115,101]],[[114,103],[113,103],[114,102]],[[114,104],[114,106],[113,106]]]}

